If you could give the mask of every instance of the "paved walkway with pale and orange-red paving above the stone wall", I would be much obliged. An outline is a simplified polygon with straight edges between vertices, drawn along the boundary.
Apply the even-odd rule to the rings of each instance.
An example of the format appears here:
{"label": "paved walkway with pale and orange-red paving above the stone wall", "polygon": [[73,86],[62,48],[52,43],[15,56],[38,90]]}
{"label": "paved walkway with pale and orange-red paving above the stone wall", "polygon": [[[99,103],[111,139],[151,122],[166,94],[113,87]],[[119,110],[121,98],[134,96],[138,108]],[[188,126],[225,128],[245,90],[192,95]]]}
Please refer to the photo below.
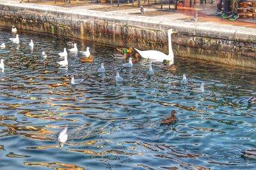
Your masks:
{"label": "paved walkway with pale and orange-red paving above the stone wall", "polygon": [[[12,1],[19,2],[19,0]],[[28,2],[26,2],[25,0],[24,3]],[[49,0],[31,0],[30,3],[61,6],[63,8],[69,8],[72,10],[87,9],[94,11],[104,11],[106,13],[111,13],[115,15],[125,14],[141,16],[140,8],[138,8],[138,1],[134,3],[134,6],[132,6],[132,4],[123,3],[120,4],[119,7],[116,3],[115,6],[111,6],[110,3],[96,3],[94,0],[93,3],[91,3],[91,1],[71,1],[71,3],[57,1],[57,3],[55,4],[54,1]],[[210,1],[206,4],[199,4],[199,2],[196,2],[193,8],[186,7],[189,6],[188,4],[186,4],[186,6],[183,7],[182,4],[180,3],[180,6],[178,6],[177,10],[174,10],[174,4],[171,4],[171,10],[169,10],[168,4],[163,4],[163,10],[161,10],[161,4],[159,2],[155,4],[154,1],[152,0],[150,1],[150,8],[148,8],[147,6],[147,1],[146,3],[144,3],[144,1],[141,1],[141,5],[147,8],[147,13],[145,13],[144,16],[159,18],[159,20],[161,20],[161,18],[172,18],[174,20],[183,20],[185,22],[191,22],[191,17],[193,17],[195,13],[198,13],[198,22],[218,23],[225,25],[236,25],[256,28],[256,20],[253,18],[239,18],[236,21],[229,21],[220,18],[220,16],[214,16],[214,12],[216,11],[215,1],[213,2],[213,4],[211,4]]]}

